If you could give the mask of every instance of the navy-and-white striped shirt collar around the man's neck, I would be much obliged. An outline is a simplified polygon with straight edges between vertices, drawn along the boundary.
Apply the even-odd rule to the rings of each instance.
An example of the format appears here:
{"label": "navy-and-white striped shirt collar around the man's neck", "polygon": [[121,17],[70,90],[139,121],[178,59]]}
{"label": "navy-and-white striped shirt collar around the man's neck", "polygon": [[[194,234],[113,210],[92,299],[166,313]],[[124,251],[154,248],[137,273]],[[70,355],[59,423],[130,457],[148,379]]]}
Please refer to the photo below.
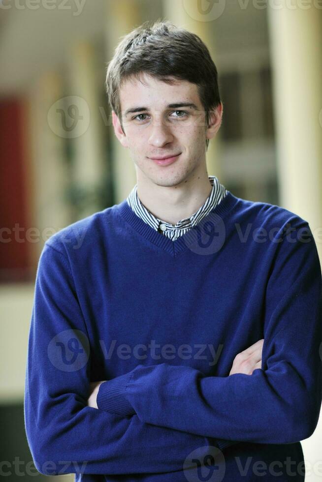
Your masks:
{"label": "navy-and-white striped shirt collar around the man's neck", "polygon": [[150,212],[140,201],[137,195],[137,184],[133,187],[127,202],[129,207],[139,216],[144,222],[149,224],[151,228],[155,229],[159,233],[163,234],[171,241],[175,241],[183,234],[187,233],[191,228],[198,224],[204,216],[212,211],[226,196],[227,189],[223,186],[216,176],[208,176],[210,184],[212,185],[212,191],[207,197],[204,204],[192,214],[190,217],[186,217],[181,221],[178,221],[175,225],[166,221],[162,221]]}

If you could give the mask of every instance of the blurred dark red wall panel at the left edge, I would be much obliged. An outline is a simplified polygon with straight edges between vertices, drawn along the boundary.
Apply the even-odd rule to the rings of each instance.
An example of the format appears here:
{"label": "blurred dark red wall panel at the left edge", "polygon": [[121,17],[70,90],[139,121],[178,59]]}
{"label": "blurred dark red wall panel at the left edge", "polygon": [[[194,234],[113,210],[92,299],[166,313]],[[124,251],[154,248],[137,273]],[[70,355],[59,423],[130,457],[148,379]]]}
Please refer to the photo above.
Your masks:
{"label": "blurred dark red wall panel at the left edge", "polygon": [[0,100],[0,282],[30,278],[24,103]]}

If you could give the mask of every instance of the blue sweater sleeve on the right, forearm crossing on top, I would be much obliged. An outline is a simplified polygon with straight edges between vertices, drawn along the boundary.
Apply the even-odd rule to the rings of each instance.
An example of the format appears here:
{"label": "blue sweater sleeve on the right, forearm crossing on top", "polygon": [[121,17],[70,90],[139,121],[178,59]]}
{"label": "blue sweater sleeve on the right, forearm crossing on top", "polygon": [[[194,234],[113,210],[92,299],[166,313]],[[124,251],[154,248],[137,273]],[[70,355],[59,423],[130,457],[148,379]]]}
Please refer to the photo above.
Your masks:
{"label": "blue sweater sleeve on the right, forearm crossing on top", "polygon": [[[322,399],[322,279],[314,238],[301,221],[295,233],[284,226],[276,237],[282,242],[266,285],[262,367],[209,377],[190,366],[138,365],[119,396],[142,422],[254,443],[312,435]],[[105,410],[113,410],[109,383],[101,385]]]}

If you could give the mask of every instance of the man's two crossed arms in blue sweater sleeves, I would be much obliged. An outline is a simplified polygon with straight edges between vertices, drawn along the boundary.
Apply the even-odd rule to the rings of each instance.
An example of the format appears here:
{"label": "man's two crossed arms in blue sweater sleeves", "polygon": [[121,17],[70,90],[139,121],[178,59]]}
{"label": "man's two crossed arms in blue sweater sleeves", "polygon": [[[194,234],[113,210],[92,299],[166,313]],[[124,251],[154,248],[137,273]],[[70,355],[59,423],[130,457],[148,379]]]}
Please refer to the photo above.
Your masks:
{"label": "man's two crossed arms in blue sweater sleeves", "polygon": [[68,458],[86,460],[89,474],[170,472],[182,470],[189,452],[218,439],[293,443],[310,436],[321,407],[321,269],[313,240],[282,249],[267,286],[263,369],[206,377],[188,366],[138,365],[100,385],[94,410],[88,406],[89,363],[70,372],[48,363],[48,345],[58,332],[87,330],[68,259],[46,245],[25,392],[37,469]]}

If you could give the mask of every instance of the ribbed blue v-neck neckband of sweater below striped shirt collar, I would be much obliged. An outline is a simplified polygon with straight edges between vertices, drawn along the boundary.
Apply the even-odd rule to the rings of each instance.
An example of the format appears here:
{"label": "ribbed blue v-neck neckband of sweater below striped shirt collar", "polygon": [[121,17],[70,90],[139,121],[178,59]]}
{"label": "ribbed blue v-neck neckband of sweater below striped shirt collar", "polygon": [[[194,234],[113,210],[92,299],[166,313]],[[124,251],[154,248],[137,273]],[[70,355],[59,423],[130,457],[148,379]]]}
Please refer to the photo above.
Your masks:
{"label": "ribbed blue v-neck neckband of sweater below striped shirt collar", "polygon": [[199,236],[199,225],[203,225],[207,221],[212,220],[215,222],[221,221],[221,219],[229,212],[235,204],[238,202],[238,198],[234,196],[230,191],[227,192],[224,199],[217,204],[217,206],[210,211],[196,226],[191,228],[187,233],[180,236],[175,241],[171,241],[169,238],[153,229],[149,224],[145,223],[135,212],[129,207],[127,200],[125,199],[115,208],[121,214],[121,216],[137,231],[141,236],[146,238],[161,249],[164,249],[170,256],[175,257],[177,254],[185,251],[192,243],[196,241]]}

